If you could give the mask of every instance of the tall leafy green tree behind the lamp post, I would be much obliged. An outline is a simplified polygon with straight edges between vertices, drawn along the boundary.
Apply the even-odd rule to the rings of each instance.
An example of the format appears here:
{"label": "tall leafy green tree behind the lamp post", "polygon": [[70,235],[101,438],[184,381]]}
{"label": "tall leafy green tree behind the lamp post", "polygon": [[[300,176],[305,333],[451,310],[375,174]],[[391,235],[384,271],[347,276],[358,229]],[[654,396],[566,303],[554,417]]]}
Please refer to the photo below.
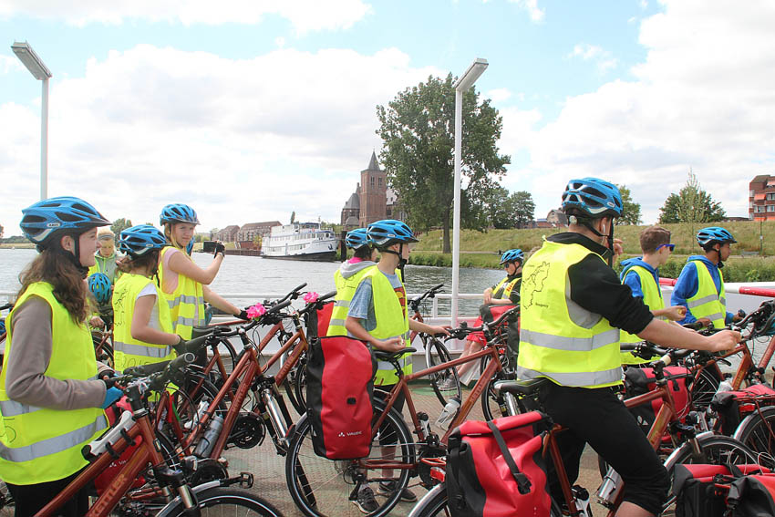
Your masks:
{"label": "tall leafy green tree behind the lamp post", "polygon": [[[440,226],[443,251],[449,253],[454,200],[455,90],[453,78],[429,77],[399,92],[387,106],[377,106],[383,141],[380,160],[390,186],[407,207],[408,223],[418,230]],[[511,161],[498,153],[502,119],[490,100],[479,101],[470,88],[463,94],[460,220],[482,229],[488,220],[491,190]]]}

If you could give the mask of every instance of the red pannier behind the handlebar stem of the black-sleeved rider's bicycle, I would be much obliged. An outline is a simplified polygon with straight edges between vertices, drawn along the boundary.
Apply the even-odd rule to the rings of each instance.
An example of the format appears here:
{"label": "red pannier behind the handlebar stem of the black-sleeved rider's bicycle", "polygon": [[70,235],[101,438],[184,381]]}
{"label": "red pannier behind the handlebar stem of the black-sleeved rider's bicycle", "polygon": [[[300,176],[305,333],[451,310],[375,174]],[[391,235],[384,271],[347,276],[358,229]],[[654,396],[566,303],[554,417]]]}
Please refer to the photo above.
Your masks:
{"label": "red pannier behind the handlebar stem of the black-sleeved rider's bicycle", "polygon": [[[683,420],[691,409],[691,394],[689,386],[693,380],[691,371],[687,367],[666,367],[663,370],[668,386],[673,394],[678,417]],[[625,370],[625,398],[633,398],[643,395],[656,388],[654,368],[629,367]],[[651,424],[656,419],[656,413],[662,408],[662,399],[655,398],[650,404],[641,404],[630,408],[630,412],[637,419],[637,423],[648,434]],[[669,439],[670,437],[666,437]]]}

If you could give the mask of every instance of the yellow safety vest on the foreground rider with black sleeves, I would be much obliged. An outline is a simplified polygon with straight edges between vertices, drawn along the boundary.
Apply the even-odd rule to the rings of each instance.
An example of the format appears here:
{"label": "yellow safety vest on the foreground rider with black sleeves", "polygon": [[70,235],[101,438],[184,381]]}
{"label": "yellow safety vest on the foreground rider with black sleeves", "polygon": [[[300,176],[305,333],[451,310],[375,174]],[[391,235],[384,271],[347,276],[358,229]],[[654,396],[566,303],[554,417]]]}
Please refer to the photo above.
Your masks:
{"label": "yellow safety vest on the foreground rider with black sleeves", "polygon": [[568,268],[590,254],[604,261],[581,244],[544,241],[525,263],[517,377],[581,388],[621,384],[619,329],[574,304],[565,291]]}

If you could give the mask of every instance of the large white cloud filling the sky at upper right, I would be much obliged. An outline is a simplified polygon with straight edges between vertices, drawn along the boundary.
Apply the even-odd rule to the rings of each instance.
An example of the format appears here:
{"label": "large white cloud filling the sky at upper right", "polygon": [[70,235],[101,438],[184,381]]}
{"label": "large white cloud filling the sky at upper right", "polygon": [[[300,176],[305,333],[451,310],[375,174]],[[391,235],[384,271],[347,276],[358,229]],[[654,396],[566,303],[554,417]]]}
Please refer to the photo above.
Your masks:
{"label": "large white cloud filling the sky at upper right", "polygon": [[775,171],[775,5],[681,0],[664,9],[641,26],[648,53],[635,80],[567,98],[557,119],[522,125],[526,133],[506,134],[504,113],[501,150],[530,153],[508,186],[530,184],[548,200],[537,216],[557,206],[565,181],[594,175],[625,183],[654,222],[690,168],[729,215],[746,216],[748,182]]}

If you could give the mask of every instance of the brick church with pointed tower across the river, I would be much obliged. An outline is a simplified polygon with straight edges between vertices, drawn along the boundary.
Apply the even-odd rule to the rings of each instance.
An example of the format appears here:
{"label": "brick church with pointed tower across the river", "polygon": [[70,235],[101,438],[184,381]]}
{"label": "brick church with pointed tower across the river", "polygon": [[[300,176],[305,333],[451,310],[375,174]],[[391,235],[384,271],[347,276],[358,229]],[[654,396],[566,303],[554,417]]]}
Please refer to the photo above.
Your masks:
{"label": "brick church with pointed tower across the river", "polygon": [[372,151],[368,167],[360,171],[356,191],[342,208],[340,223],[344,231],[349,231],[388,218],[403,221],[407,215],[398,209],[398,193],[387,188],[387,171],[379,169],[377,153]]}

